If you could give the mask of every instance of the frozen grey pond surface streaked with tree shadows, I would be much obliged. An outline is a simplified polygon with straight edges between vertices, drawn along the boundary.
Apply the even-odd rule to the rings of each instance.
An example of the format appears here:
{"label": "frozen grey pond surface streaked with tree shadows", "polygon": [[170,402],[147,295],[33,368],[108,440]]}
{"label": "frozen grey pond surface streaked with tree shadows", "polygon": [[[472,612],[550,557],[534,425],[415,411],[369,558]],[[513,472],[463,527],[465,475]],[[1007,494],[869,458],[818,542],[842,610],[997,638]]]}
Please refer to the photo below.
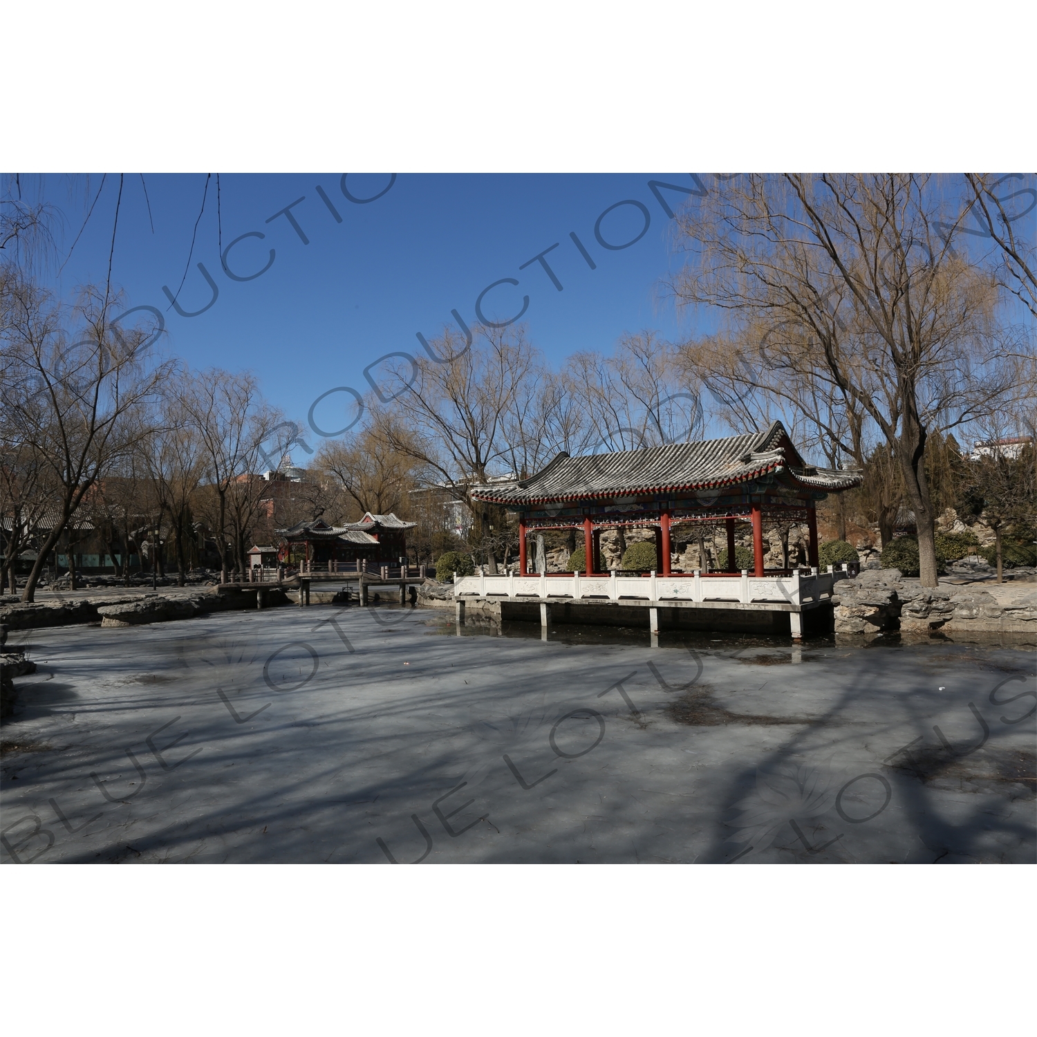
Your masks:
{"label": "frozen grey pond surface streaked with tree shadows", "polygon": [[15,633],[3,860],[1035,861],[1028,648],[461,633],[356,606]]}

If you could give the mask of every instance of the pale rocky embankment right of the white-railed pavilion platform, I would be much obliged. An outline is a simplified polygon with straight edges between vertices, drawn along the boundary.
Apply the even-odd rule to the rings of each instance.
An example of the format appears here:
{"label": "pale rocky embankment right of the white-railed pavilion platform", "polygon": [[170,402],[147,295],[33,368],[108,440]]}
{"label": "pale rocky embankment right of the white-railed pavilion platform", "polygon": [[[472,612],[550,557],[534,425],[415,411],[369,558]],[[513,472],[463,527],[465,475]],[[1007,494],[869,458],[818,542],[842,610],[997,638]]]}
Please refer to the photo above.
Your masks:
{"label": "pale rocky embankment right of the white-railed pavilion platform", "polygon": [[836,634],[1022,634],[1037,639],[1037,587],[922,587],[899,569],[840,580],[832,598]]}

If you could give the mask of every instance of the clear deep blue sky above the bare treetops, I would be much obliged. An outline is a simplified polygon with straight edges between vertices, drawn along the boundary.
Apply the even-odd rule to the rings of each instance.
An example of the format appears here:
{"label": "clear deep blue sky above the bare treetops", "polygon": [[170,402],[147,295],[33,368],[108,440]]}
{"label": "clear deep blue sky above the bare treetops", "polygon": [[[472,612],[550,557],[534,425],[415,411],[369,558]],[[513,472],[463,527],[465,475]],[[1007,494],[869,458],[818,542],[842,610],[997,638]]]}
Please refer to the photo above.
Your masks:
{"label": "clear deep blue sky above the bare treetops", "polygon": [[[113,257],[113,283],[127,292],[130,306],[162,310],[167,347],[194,367],[249,368],[258,374],[269,398],[305,423],[310,403],[335,386],[369,386],[363,370],[391,352],[420,351],[416,333],[427,338],[452,321],[456,309],[471,326],[479,293],[495,281],[513,278],[487,293],[483,312],[506,319],[529,297],[523,316],[532,341],[559,364],[577,349],[611,349],[624,331],[655,329],[667,337],[688,331],[662,284],[681,262],[674,253],[672,221],[653,196],[650,179],[688,188],[688,173],[668,174],[400,174],[373,201],[358,204],[342,192],[341,174],[221,174],[219,225],[215,175],[208,181],[200,219],[205,174],[149,174],[144,187],[125,174]],[[26,197],[44,196],[65,215],[61,259],[68,253],[101,176],[81,177],[71,197],[68,178],[23,178]],[[385,190],[390,175],[352,174],[346,190],[356,198]],[[334,206],[337,222],[317,192]],[[71,297],[77,284],[104,283],[112,244],[119,176],[109,174],[93,214],[64,265],[58,290]],[[664,191],[671,207],[686,199]],[[308,239],[304,244],[288,219],[290,213]],[[601,237],[626,248],[607,249]],[[151,222],[153,221],[153,232]],[[197,231],[195,224],[197,221]],[[260,270],[270,250],[276,256],[261,276],[235,281],[223,271],[218,236],[226,248],[247,232],[227,263],[239,276]],[[574,232],[596,269],[569,237]],[[219,289],[216,303],[198,316],[170,308],[163,286],[187,312],[213,298],[197,263]],[[539,262],[520,268],[552,245],[550,263],[559,291]],[[142,314],[146,316],[146,314]],[[376,370],[376,369],[375,369]],[[318,424],[340,427],[339,394],[318,411]],[[337,410],[336,410],[337,408]]]}

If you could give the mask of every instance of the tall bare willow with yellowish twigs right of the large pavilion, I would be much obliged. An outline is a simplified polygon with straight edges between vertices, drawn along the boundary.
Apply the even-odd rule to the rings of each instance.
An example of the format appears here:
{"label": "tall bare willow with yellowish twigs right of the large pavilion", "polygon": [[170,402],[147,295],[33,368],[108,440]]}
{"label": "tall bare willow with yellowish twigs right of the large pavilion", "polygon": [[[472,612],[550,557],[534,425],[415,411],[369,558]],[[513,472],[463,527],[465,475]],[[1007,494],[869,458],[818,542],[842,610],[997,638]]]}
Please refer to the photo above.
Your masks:
{"label": "tall bare willow with yellowish twigs right of the large pavilion", "polygon": [[926,438],[1005,405],[1015,387],[994,279],[953,248],[962,214],[951,206],[913,174],[718,181],[678,216],[690,262],[673,282],[683,303],[726,312],[745,364],[766,369],[762,387],[822,383],[888,444],[925,586],[937,583]]}

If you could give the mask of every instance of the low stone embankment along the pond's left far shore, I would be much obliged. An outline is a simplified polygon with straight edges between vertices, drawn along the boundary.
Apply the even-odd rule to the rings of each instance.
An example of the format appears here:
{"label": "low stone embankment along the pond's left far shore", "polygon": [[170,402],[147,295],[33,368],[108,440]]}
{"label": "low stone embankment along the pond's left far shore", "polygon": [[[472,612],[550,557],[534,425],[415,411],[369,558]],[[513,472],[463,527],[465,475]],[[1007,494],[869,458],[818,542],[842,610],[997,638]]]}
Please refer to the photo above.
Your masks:
{"label": "low stone embankment along the pond's left far shore", "polygon": [[[276,588],[268,589],[264,594],[267,597],[264,606],[287,602],[284,592]],[[0,623],[11,630],[95,623],[99,620],[102,626],[138,626],[142,623],[158,623],[171,619],[190,619],[211,612],[254,608],[255,595],[244,592],[106,594],[33,604],[8,599],[0,605]]]}

